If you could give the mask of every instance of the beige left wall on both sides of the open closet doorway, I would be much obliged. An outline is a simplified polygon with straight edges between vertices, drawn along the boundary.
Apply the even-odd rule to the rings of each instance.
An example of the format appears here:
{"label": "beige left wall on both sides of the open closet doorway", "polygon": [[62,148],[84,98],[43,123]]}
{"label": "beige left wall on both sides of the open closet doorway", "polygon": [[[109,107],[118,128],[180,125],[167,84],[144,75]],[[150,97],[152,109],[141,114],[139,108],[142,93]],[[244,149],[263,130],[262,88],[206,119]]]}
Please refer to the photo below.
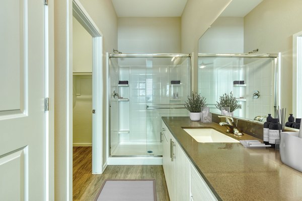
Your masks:
{"label": "beige left wall on both sides of the open closet doorway", "polygon": [[[117,16],[111,0],[81,1],[90,17],[103,33],[105,52],[117,47]],[[68,11],[68,13],[67,13]],[[72,1],[54,1],[54,79],[55,79],[55,200],[72,200]],[[105,74],[106,75],[106,74]],[[104,77],[105,78],[105,77]],[[104,79],[106,84],[106,79]],[[106,86],[106,85],[104,85]],[[104,88],[104,94],[107,93]],[[104,96],[106,100],[106,96]],[[106,108],[104,108],[104,117]],[[106,118],[104,118],[106,121]],[[106,122],[105,122],[106,125]],[[104,132],[106,128],[104,127]],[[104,143],[106,143],[106,135]],[[106,146],[103,146],[106,151]],[[104,155],[106,158],[106,155]],[[68,173],[68,174],[66,174]],[[66,187],[67,186],[67,187]]]}

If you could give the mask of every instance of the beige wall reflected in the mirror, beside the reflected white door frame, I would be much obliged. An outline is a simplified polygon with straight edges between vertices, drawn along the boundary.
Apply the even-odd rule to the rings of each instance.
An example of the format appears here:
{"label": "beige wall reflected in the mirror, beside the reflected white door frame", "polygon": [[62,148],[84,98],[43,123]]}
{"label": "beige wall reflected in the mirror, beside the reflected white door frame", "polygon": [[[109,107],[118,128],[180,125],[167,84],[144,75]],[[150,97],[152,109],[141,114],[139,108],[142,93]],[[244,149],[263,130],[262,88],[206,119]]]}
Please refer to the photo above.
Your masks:
{"label": "beige wall reflected in the mirror, beside the reflected white door frame", "polygon": [[292,112],[292,35],[302,31],[300,0],[264,0],[244,19],[244,52],[281,52],[281,107]]}

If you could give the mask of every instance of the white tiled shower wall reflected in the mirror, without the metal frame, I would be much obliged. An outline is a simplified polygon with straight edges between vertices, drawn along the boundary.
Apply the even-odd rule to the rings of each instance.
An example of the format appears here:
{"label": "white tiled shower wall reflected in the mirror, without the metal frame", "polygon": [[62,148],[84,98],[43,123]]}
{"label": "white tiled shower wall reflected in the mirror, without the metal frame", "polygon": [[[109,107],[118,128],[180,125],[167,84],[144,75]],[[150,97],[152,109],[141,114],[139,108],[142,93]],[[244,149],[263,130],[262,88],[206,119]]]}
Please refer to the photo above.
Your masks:
{"label": "white tiled shower wall reflected in the mirror, without the metal frame", "polygon": [[[206,97],[212,112],[220,113],[214,104],[219,96],[232,91],[242,107],[235,110],[234,116],[254,119],[273,111],[273,69],[273,58],[213,59],[206,68],[198,71],[198,92]],[[233,85],[235,80],[244,80],[246,86]],[[260,92],[258,99],[253,99],[255,90]]]}

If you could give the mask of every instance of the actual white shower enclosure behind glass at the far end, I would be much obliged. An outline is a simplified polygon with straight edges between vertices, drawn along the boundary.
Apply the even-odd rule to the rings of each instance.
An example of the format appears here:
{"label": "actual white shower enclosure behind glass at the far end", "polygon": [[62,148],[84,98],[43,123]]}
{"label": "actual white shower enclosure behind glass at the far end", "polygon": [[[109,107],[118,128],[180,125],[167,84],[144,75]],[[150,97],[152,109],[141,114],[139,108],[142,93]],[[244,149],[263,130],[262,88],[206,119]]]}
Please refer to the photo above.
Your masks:
{"label": "actual white shower enclosure behind glass at the far end", "polygon": [[188,116],[190,55],[108,57],[110,156],[162,156],[161,117]]}

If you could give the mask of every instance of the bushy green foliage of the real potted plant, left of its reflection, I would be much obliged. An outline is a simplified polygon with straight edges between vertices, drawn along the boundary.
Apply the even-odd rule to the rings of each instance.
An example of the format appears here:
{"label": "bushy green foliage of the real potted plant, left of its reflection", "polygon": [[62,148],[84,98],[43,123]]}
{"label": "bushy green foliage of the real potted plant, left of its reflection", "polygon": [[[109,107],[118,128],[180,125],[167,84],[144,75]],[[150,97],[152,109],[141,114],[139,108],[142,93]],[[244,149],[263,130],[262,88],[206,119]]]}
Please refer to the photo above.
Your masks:
{"label": "bushy green foliage of the real potted plant, left of its reflection", "polygon": [[188,100],[185,101],[185,108],[190,112],[200,112],[201,108],[206,106],[206,98],[196,92],[192,92],[192,95],[188,96]]}

